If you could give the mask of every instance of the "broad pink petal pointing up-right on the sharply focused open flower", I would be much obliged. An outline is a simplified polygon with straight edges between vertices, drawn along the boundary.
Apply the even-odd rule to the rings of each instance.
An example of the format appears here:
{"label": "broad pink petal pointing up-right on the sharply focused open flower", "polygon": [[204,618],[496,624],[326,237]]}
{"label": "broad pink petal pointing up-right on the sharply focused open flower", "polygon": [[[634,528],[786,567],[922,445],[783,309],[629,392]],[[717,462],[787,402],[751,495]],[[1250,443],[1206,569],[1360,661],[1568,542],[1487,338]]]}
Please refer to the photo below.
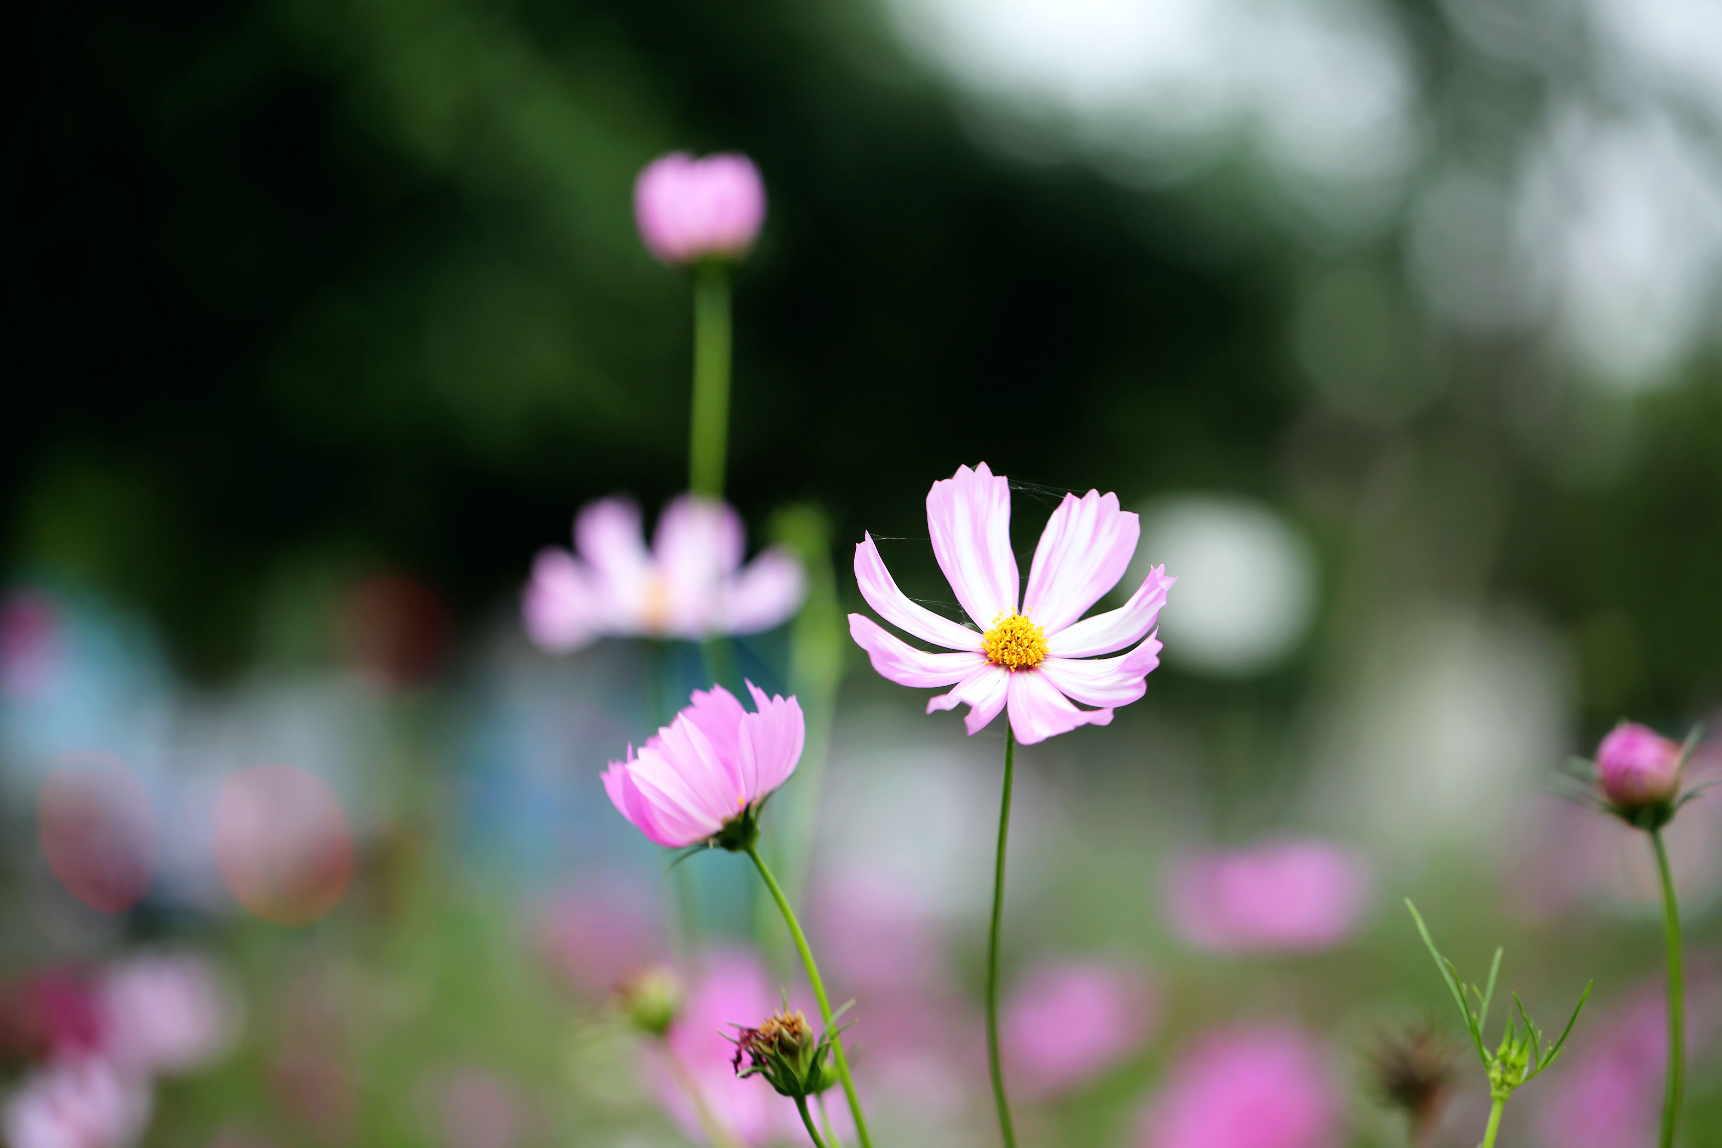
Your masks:
{"label": "broad pink petal pointing up-right on the sharply focused open flower", "polygon": [[1035,547],[1023,613],[1047,633],[1081,618],[1124,577],[1140,534],[1137,516],[1118,508],[1116,494],[1066,494]]}

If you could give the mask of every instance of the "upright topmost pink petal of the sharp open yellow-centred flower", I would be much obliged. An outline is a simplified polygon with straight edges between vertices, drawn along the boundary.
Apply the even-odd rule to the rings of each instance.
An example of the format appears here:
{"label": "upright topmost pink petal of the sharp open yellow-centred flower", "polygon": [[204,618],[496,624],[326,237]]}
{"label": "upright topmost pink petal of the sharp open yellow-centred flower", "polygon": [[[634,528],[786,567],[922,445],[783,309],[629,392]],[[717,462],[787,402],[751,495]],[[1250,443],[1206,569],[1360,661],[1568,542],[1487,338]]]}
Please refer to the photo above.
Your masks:
{"label": "upright topmost pink petal of the sharp open yellow-centred flower", "polygon": [[1016,609],[1021,583],[1011,552],[1011,484],[987,463],[959,466],[926,494],[933,556],[963,609],[982,630]]}

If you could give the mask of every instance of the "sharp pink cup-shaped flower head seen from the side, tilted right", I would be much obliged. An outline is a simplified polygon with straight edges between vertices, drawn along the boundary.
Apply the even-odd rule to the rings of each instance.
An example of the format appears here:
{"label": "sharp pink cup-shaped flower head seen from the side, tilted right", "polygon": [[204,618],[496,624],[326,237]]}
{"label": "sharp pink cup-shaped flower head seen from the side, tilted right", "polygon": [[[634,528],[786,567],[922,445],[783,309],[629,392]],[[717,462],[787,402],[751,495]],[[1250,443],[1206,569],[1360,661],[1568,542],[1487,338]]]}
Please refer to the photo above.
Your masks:
{"label": "sharp pink cup-shaped flower head seen from the side, tilted right", "polygon": [[716,836],[801,761],[806,723],[794,697],[766,697],[747,683],[756,713],[722,685],[694,690],[692,704],[627,761],[604,771],[604,790],[622,816],[658,845],[682,849]]}

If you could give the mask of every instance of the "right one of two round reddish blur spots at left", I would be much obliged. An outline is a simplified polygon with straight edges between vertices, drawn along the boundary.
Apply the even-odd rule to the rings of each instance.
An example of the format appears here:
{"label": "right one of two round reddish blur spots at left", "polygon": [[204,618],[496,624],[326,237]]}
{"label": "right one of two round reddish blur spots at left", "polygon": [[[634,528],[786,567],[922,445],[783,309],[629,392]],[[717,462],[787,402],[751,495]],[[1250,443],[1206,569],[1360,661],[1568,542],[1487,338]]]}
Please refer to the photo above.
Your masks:
{"label": "right one of two round reddish blur spots at left", "polygon": [[265,921],[324,916],[353,878],[353,833],[334,790],[294,766],[231,773],[215,793],[215,869]]}

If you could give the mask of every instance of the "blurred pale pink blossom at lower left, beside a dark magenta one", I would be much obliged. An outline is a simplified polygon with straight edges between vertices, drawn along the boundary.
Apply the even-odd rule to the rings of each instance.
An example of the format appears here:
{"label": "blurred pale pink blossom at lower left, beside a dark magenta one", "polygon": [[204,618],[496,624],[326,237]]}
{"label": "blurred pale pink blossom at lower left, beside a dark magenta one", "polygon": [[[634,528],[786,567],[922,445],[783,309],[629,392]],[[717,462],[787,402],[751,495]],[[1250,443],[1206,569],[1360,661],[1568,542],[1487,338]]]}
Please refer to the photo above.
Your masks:
{"label": "blurred pale pink blossom at lower left, beside a dark magenta one", "polygon": [[114,966],[103,984],[108,1055],[139,1074],[176,1074],[220,1057],[239,1034],[238,1003],[205,957],[162,952]]}

